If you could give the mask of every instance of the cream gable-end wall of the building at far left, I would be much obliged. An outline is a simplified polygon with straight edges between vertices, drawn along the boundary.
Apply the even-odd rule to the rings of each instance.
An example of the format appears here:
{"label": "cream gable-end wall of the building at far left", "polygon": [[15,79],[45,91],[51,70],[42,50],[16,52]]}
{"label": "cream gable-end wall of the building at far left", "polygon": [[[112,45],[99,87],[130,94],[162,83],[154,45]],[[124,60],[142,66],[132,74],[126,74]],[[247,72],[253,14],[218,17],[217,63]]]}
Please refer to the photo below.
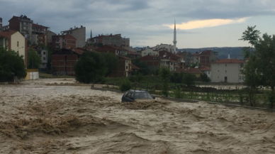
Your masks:
{"label": "cream gable-end wall of the building at far left", "polygon": [[[26,57],[25,56],[25,48],[26,48],[25,41],[26,41],[26,39],[19,32],[13,33],[13,35],[11,35],[11,50],[14,50],[16,52],[18,51],[19,55],[23,55],[24,60]],[[18,42],[18,45],[17,45],[17,42]]]}

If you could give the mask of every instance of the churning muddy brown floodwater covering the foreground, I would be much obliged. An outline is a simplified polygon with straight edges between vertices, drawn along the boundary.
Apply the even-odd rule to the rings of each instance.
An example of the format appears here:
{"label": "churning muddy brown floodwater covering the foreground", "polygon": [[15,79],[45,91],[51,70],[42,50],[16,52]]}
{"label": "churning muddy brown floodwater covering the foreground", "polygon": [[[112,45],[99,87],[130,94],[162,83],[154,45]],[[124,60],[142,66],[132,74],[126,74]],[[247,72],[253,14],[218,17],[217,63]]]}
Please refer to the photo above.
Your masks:
{"label": "churning muddy brown floodwater covering the foreground", "polygon": [[[274,113],[122,94],[74,79],[0,86],[0,153],[275,153]],[[100,87],[100,85],[96,85]]]}

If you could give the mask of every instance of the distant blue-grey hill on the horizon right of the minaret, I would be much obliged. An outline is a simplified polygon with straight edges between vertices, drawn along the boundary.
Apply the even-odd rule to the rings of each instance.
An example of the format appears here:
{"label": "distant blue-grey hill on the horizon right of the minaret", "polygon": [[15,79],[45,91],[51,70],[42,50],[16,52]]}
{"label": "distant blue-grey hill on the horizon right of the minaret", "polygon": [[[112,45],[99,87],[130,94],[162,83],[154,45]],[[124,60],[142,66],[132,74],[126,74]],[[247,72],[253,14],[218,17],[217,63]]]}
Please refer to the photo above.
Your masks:
{"label": "distant blue-grey hill on the horizon right of the minaret", "polygon": [[183,48],[183,49],[179,49],[179,51],[199,53],[204,50],[213,50],[214,52],[218,52],[219,59],[228,58],[228,54],[230,54],[230,58],[243,59],[244,56],[242,55],[242,52],[243,52],[242,48],[243,47]]}

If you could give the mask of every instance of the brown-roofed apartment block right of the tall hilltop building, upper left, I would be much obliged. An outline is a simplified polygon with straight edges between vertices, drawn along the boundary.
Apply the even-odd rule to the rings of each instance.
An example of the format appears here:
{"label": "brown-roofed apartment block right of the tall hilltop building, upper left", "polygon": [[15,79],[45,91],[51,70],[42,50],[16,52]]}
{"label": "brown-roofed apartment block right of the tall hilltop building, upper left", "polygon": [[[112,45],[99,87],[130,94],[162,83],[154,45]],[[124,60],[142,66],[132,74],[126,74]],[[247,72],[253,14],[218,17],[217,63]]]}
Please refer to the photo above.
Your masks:
{"label": "brown-roofed apartment block right of the tall hilltop building, upper left", "polygon": [[33,23],[31,43],[47,45],[47,29],[49,27]]}

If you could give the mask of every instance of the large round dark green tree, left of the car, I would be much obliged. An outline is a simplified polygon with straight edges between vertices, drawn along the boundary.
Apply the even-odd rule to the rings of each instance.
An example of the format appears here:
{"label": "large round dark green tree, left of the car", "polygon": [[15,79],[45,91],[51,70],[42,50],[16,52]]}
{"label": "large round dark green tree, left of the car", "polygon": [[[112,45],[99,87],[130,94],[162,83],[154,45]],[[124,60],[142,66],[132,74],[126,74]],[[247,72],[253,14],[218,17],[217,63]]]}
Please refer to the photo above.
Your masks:
{"label": "large round dark green tree, left of the car", "polygon": [[75,78],[86,84],[101,81],[106,75],[107,67],[102,54],[85,52],[74,65]]}

